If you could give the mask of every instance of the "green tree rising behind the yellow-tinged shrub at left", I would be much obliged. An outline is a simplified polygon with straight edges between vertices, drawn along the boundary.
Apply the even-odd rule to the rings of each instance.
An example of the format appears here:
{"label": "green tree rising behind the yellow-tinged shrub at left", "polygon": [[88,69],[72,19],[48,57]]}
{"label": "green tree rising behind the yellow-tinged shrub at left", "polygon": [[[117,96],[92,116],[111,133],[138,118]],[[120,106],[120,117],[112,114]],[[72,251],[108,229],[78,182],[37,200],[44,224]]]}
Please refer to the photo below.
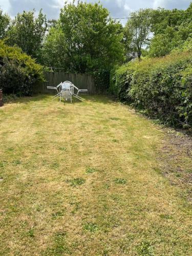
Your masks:
{"label": "green tree rising behind the yellow-tinged shrub at left", "polygon": [[35,18],[35,10],[17,14],[8,32],[7,43],[18,46],[25,53],[35,58],[40,58],[42,42],[47,30],[46,16],[40,10]]}

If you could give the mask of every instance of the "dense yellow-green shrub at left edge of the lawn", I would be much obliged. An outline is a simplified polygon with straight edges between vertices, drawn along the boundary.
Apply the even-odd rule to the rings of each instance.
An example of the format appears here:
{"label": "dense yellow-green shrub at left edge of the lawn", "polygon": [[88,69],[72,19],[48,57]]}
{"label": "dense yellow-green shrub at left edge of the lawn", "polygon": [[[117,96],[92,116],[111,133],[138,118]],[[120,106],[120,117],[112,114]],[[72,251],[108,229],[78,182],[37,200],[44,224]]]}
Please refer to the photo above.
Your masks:
{"label": "dense yellow-green shrub at left edge of the lawn", "polygon": [[17,47],[0,40],[0,88],[6,94],[32,95],[33,86],[44,81],[42,66]]}

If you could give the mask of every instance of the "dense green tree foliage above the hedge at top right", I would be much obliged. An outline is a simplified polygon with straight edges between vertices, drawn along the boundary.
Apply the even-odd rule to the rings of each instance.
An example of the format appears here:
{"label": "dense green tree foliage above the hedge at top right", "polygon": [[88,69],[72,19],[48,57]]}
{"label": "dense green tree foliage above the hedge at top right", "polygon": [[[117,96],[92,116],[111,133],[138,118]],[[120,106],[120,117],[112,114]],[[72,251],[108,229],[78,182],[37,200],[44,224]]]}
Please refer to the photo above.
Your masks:
{"label": "dense green tree foliage above the hedge at top right", "polygon": [[152,14],[152,32],[149,55],[161,57],[176,48],[182,48],[184,42],[192,37],[192,13],[187,9],[154,10]]}

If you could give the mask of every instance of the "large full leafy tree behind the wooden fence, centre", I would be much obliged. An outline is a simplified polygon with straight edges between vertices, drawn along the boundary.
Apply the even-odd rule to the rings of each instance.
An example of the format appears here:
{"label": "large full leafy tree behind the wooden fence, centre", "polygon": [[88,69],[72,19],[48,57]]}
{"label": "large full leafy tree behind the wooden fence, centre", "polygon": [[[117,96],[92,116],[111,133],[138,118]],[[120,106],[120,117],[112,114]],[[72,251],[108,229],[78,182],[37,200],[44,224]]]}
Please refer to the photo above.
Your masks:
{"label": "large full leafy tree behind the wooden fence, centre", "polygon": [[65,58],[68,70],[110,70],[123,61],[122,26],[110,18],[101,4],[65,4],[58,23],[57,29],[61,29],[66,40],[67,57],[57,57]]}

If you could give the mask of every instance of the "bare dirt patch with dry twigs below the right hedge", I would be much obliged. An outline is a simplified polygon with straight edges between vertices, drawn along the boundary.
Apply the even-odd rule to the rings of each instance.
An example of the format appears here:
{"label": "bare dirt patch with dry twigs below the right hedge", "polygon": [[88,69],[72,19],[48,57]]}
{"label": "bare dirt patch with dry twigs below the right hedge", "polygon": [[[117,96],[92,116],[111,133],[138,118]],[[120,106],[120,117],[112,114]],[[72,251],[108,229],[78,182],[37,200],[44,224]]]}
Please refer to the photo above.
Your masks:
{"label": "bare dirt patch with dry twigs below the right hedge", "polygon": [[188,190],[192,196],[192,135],[183,131],[164,129],[165,139],[158,158],[163,174],[174,185]]}

